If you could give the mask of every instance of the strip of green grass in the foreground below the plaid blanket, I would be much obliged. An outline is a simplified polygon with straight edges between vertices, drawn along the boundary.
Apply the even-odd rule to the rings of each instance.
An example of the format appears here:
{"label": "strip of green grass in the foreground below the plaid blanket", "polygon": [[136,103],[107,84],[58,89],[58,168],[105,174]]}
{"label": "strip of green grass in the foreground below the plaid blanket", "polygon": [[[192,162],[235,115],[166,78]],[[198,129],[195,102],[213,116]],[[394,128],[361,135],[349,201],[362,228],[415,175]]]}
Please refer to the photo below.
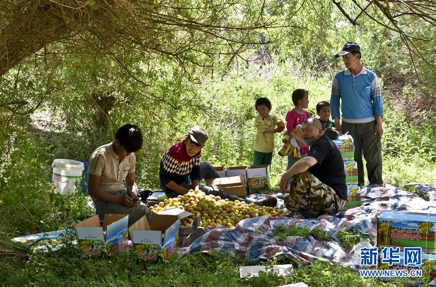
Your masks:
{"label": "strip of green grass in the foreground below the plaid blanket", "polygon": [[[270,265],[272,262],[263,264]],[[364,279],[349,268],[319,260],[315,260],[310,267],[295,267],[291,276],[280,277],[270,271],[255,278],[240,279],[238,264],[228,255],[218,252],[188,255],[180,258],[171,268],[147,272],[140,271],[125,254],[111,258],[91,258],[70,245],[49,254],[15,258],[1,267],[0,285],[8,287],[274,287],[297,282],[316,287],[405,286],[401,280],[382,283]]]}

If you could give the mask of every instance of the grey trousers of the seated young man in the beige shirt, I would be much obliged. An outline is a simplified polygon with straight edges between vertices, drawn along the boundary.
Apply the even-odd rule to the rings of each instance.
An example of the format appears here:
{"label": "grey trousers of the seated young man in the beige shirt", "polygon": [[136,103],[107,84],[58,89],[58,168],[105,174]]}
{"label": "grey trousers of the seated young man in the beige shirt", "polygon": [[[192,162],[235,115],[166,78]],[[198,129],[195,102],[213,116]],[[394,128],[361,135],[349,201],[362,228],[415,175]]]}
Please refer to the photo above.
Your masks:
{"label": "grey trousers of the seated young man in the beige shirt", "polygon": [[[127,190],[120,190],[115,192],[110,192],[113,196],[127,196]],[[148,209],[148,207],[143,204],[142,202],[136,206],[129,207],[124,206],[122,204],[113,203],[113,202],[107,202],[102,201],[97,198],[92,198],[94,201],[94,207],[96,208],[96,214],[98,214],[98,217],[100,220],[103,220],[104,215],[106,213],[108,214],[128,214],[129,215],[129,225],[132,225],[136,221],[138,221],[141,217],[144,215],[147,216],[147,220],[149,220],[151,211]]]}

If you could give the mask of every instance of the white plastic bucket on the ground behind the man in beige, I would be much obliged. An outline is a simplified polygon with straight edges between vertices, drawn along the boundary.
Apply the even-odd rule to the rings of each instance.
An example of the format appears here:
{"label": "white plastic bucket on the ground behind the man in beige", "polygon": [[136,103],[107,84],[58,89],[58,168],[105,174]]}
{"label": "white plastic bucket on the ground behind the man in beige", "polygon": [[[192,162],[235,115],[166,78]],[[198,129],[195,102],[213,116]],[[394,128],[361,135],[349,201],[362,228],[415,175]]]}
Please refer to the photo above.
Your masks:
{"label": "white plastic bucket on the ground behind the man in beige", "polygon": [[53,161],[52,180],[56,191],[62,195],[76,192],[74,183],[80,181],[84,165],[82,162],[71,159],[55,159]]}

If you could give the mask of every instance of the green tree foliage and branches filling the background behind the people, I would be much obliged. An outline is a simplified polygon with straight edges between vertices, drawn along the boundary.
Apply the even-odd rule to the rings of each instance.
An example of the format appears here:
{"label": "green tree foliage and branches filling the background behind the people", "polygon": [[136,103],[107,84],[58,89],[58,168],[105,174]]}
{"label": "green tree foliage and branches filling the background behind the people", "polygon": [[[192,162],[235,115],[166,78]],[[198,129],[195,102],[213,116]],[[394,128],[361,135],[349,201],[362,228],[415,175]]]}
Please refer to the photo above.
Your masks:
{"label": "green tree foliage and branches filling the background behind the people", "polygon": [[[343,68],[333,55],[348,41],[384,82],[385,102],[402,108],[387,113],[386,156],[425,168],[435,159],[434,9],[430,0],[1,1],[0,187],[8,192],[0,210],[19,214],[11,224],[20,231],[70,219],[67,211],[45,217],[55,210],[44,197],[51,160],[86,160],[126,122],[146,138],[143,187],[159,186],[162,152],[194,123],[213,138],[204,159],[249,164],[256,97],[270,97],[283,116],[303,87],[314,115]],[[400,170],[392,182],[404,183],[410,166],[387,165]],[[275,159],[275,180],[285,166]]]}

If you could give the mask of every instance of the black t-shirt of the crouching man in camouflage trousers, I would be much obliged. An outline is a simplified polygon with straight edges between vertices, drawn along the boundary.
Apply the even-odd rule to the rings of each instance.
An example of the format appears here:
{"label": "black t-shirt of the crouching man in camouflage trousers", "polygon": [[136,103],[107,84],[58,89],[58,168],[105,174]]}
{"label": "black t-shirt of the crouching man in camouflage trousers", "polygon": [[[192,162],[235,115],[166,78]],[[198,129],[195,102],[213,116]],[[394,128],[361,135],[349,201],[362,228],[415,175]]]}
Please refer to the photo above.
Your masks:
{"label": "black t-shirt of the crouching man in camouflage trousers", "polygon": [[324,184],[333,188],[340,198],[347,200],[345,185],[345,169],[338,147],[323,135],[310,147],[308,156],[314,157],[318,163],[307,170]]}

